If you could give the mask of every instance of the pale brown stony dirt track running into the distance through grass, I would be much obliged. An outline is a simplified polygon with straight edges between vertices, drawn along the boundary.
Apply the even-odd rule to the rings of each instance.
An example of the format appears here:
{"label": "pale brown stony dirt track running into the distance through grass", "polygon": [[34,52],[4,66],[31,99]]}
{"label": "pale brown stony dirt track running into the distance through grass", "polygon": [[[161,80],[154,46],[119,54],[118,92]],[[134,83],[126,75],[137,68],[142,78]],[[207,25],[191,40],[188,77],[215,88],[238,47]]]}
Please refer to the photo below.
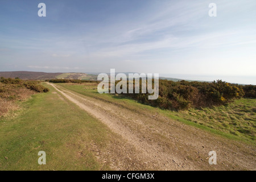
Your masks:
{"label": "pale brown stony dirt track running into the distance through grass", "polygon": [[[256,169],[255,147],[224,139],[148,111],[133,111],[50,84],[61,97],[104,123],[119,138],[97,154],[115,170]],[[208,163],[216,151],[217,165]]]}

